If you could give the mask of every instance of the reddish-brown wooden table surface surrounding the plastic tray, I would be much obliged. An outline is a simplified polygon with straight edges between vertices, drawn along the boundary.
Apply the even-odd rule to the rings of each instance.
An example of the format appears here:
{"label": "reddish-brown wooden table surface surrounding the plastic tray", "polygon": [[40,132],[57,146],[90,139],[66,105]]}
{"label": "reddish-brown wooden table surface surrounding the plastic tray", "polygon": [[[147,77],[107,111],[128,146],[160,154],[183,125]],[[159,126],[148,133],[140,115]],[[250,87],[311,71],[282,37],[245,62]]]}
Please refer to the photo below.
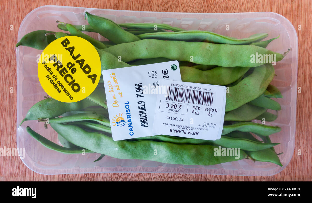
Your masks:
{"label": "reddish-brown wooden table surface surrounding the plastic tray", "polygon": [[[310,0],[163,0],[163,1],[1,1],[0,49],[1,96],[0,147],[16,147],[16,55],[18,28],[23,18],[43,5],[60,5],[154,12],[275,12],[286,17],[296,28],[298,50],[296,141],[293,158],[280,173],[269,177],[245,177],[169,173],[98,173],[70,175],[41,175],[31,171],[19,157],[0,157],[0,181],[311,181],[311,11]],[[301,30],[298,30],[301,25]],[[11,88],[13,87],[13,88]],[[13,92],[10,91],[13,89]],[[301,155],[298,155],[301,150]]]}

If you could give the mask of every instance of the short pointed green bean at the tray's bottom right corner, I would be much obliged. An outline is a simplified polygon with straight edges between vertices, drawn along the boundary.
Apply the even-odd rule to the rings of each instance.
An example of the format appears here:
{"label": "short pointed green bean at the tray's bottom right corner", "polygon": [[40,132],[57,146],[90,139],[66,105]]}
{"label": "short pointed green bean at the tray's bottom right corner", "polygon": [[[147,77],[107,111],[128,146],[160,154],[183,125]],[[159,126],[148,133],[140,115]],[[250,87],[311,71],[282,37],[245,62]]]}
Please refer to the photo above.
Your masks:
{"label": "short pointed green bean at the tray's bottom right corner", "polygon": [[272,151],[272,149],[262,149],[259,151],[246,151],[246,153],[254,161],[271,162],[279,166],[283,166],[283,164],[280,163],[280,159],[278,158],[276,153]]}

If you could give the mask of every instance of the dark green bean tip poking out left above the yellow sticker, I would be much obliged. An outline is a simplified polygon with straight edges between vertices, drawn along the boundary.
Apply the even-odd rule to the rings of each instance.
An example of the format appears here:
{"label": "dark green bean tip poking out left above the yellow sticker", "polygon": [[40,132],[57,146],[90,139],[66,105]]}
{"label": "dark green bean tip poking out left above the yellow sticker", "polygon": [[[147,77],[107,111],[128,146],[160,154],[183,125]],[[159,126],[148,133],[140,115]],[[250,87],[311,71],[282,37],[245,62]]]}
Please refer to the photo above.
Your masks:
{"label": "dark green bean tip poking out left above the yellow sticker", "polygon": [[17,42],[16,47],[18,46],[28,46],[38,50],[44,50],[48,44],[56,40],[55,35],[47,35],[51,31],[46,30],[36,30],[30,33],[27,33],[22,37],[22,39]]}

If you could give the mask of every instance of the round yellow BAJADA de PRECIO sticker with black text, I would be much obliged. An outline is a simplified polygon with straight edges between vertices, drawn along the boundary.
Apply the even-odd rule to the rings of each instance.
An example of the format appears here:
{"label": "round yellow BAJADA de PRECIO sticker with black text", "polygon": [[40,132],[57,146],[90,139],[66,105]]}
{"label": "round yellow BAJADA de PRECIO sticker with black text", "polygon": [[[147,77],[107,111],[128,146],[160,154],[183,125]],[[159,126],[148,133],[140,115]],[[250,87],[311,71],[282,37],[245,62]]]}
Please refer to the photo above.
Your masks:
{"label": "round yellow BAJADA de PRECIO sticker with black text", "polygon": [[43,50],[38,63],[38,77],[44,91],[62,102],[88,97],[98,85],[100,76],[98,52],[90,42],[76,36],[52,41]]}

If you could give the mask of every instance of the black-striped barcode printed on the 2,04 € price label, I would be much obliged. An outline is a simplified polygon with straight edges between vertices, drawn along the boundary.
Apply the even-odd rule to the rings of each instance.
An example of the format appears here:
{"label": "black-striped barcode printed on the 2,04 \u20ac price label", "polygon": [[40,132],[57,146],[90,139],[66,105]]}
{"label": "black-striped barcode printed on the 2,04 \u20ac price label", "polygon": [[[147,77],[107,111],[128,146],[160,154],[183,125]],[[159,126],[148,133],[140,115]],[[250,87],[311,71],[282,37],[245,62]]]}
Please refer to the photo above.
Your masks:
{"label": "black-striped barcode printed on the 2,04 \u20ac price label", "polygon": [[213,92],[168,87],[166,100],[212,106]]}

